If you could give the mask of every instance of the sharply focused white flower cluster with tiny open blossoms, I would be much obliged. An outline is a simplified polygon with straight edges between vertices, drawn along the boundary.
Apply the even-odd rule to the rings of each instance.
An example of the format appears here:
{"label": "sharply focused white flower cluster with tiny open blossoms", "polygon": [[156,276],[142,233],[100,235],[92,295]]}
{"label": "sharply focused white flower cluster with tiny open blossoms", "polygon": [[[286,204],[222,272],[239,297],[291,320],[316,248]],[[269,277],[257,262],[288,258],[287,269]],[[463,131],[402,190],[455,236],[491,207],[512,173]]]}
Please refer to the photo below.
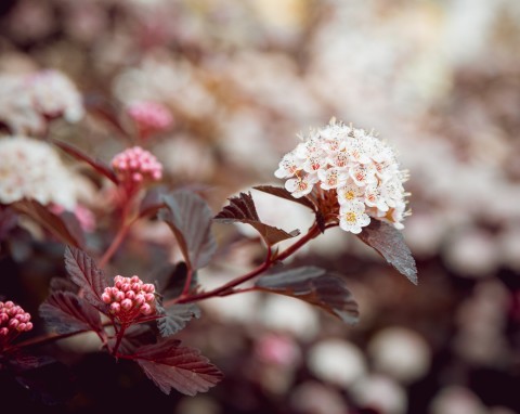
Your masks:
{"label": "sharply focused white flower cluster with tiny open blossoms", "polygon": [[360,233],[370,217],[403,228],[407,174],[399,169],[391,147],[373,132],[335,119],[300,138],[302,142],[283,157],[274,173],[288,179],[285,187],[294,197],[310,194],[318,184],[336,192],[344,231]]}

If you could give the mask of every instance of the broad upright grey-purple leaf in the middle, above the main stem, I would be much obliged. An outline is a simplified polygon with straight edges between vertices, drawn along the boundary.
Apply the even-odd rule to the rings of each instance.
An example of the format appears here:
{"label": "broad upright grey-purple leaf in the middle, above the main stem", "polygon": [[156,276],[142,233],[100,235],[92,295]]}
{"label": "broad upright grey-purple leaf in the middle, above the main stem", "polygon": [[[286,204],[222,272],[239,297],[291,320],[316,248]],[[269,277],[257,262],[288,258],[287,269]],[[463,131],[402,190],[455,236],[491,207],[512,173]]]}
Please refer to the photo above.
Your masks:
{"label": "broad upright grey-purple leaf in the middle, above the main stem", "polygon": [[188,267],[204,268],[217,250],[208,204],[186,190],[174,191],[165,196],[164,202],[166,207],[159,211],[159,219],[173,231]]}

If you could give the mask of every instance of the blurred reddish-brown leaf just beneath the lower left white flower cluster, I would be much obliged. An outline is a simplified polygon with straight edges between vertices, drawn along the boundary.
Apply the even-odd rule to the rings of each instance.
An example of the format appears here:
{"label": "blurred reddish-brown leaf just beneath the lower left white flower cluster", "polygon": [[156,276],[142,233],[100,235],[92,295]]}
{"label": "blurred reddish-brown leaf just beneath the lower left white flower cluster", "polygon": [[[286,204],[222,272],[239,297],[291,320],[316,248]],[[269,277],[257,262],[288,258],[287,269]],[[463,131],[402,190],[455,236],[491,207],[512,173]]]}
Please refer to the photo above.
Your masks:
{"label": "blurred reddish-brown leaf just beneath the lower left white flower cluster", "polygon": [[83,232],[75,216],[70,212],[55,215],[34,199],[13,203],[11,207],[26,215],[49,231],[55,237],[75,247],[83,244]]}

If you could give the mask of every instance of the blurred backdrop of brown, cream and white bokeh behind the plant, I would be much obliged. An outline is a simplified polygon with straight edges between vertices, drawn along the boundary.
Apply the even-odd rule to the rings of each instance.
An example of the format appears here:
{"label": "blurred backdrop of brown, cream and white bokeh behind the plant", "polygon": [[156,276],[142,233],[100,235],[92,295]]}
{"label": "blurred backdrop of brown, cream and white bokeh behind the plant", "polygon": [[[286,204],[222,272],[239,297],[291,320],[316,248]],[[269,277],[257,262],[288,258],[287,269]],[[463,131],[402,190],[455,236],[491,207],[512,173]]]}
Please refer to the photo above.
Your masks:
{"label": "blurred backdrop of brown, cream and white bokeh behind the plant", "polygon": [[[333,116],[374,128],[411,171],[403,233],[419,275],[412,285],[335,229],[295,263],[344,274],[356,326],[284,297],[213,299],[181,335],[224,372],[210,392],[162,396],[133,365],[68,344],[78,384],[63,410],[520,413],[518,0],[3,0],[0,76],[42,68],[69,77],[87,109],[51,135],[106,161],[136,142],[116,127],[132,128],[128,105],[164,105],[170,127],[141,144],[165,181],[203,192],[213,211],[239,190],[281,185],[273,172],[298,132]],[[270,223],[311,223],[253,196]],[[95,194],[83,203],[102,210]],[[262,257],[242,229],[213,230],[225,248],[200,274],[208,286]],[[127,244],[136,259],[114,268],[174,258],[167,233],[140,223]],[[63,270],[61,251],[32,243],[24,260],[1,259],[0,293],[36,313]]]}

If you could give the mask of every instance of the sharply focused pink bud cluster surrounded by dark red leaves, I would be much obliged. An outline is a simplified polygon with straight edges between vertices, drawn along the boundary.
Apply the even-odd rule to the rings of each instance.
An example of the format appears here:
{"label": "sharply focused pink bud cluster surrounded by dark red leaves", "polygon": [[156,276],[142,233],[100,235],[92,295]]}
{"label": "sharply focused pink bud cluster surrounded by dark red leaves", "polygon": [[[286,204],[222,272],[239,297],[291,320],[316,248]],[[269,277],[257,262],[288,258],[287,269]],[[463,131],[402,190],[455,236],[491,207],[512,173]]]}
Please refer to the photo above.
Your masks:
{"label": "sharply focused pink bud cluster surrounded by dark red leaves", "polygon": [[139,276],[114,277],[114,286],[106,287],[101,299],[110,307],[110,313],[121,323],[130,323],[141,315],[155,312],[155,286],[143,283]]}

